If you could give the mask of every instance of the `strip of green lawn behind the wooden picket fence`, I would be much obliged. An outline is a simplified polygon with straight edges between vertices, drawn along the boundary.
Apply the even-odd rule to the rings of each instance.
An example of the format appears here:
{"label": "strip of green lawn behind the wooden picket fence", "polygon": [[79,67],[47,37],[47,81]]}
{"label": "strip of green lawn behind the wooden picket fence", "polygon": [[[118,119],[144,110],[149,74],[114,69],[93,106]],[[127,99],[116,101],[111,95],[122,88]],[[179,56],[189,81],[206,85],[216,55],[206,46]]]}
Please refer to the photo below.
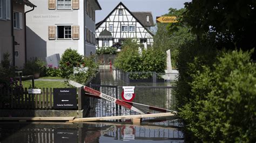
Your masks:
{"label": "strip of green lawn behind the wooden picket fence", "polygon": [[[22,81],[22,85],[24,88],[29,88],[30,85],[32,87],[32,81]],[[64,82],[59,81],[35,81],[36,88],[68,88]]]}

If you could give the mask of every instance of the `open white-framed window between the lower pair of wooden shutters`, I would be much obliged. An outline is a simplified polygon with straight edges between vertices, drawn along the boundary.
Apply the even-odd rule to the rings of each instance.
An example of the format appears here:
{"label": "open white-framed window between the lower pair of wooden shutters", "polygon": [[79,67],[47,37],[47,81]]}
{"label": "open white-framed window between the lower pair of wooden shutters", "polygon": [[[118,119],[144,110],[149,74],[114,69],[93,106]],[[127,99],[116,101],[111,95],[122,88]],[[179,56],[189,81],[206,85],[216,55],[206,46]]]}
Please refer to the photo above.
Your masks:
{"label": "open white-framed window between the lower pair of wooden shutters", "polygon": [[57,39],[71,39],[71,26],[57,26]]}

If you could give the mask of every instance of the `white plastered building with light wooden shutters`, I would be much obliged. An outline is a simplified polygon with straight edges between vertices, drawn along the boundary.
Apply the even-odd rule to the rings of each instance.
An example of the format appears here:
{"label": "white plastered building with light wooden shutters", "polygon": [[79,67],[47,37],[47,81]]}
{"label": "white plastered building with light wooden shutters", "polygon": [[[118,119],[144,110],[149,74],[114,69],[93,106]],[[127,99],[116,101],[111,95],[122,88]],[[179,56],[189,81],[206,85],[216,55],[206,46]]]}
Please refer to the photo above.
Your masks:
{"label": "white plastered building with light wooden shutters", "polygon": [[[96,52],[95,11],[97,0],[31,0],[37,9],[26,15],[28,58],[76,49],[79,54]],[[26,8],[26,11],[30,8]]]}

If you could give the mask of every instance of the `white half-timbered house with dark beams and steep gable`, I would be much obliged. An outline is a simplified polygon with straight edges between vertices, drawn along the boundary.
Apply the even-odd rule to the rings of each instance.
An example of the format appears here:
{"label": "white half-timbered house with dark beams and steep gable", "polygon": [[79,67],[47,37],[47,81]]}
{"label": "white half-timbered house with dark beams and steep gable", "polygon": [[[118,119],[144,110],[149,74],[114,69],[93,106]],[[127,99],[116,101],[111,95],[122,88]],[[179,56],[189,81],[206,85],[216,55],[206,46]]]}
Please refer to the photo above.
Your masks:
{"label": "white half-timbered house with dark beams and steep gable", "polygon": [[131,12],[120,2],[104,20],[96,24],[96,47],[119,45],[127,38],[152,46],[151,26],[154,26],[151,12]]}

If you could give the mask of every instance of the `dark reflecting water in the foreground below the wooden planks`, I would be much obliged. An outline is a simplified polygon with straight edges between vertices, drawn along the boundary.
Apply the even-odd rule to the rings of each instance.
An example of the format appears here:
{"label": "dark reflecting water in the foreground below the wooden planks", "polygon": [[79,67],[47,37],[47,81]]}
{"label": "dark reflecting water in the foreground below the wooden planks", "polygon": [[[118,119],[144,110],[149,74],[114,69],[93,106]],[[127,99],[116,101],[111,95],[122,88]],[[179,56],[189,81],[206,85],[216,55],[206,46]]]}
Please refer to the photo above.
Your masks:
{"label": "dark reflecting water in the foreground below the wooden planks", "polygon": [[[22,125],[23,124],[23,125]],[[26,124],[24,126],[24,124]],[[177,123],[174,123],[175,125]],[[184,142],[177,126],[144,123],[0,123],[1,142]]]}

